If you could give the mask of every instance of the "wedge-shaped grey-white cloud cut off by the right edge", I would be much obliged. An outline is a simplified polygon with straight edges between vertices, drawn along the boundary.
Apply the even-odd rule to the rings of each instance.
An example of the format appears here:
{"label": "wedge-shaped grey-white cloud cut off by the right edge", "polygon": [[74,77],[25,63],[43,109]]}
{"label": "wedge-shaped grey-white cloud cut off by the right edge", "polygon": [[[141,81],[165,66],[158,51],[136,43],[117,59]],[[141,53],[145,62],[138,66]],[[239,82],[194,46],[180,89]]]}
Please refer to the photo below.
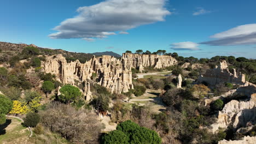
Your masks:
{"label": "wedge-shaped grey-white cloud cut off by the right edge", "polygon": [[254,45],[256,44],[256,23],[237,26],[228,31],[212,35],[216,40],[205,41],[207,45]]}

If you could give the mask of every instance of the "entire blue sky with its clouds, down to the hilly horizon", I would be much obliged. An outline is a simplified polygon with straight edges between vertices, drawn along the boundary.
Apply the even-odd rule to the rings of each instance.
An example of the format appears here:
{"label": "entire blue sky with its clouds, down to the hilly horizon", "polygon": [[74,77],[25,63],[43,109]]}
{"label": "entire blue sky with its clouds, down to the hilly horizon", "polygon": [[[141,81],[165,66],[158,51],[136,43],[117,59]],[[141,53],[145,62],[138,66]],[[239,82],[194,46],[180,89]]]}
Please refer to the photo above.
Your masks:
{"label": "entire blue sky with its clouds, down to the hilly horizon", "polygon": [[184,57],[256,58],[255,5],[255,0],[2,1],[0,41],[85,53],[162,49]]}

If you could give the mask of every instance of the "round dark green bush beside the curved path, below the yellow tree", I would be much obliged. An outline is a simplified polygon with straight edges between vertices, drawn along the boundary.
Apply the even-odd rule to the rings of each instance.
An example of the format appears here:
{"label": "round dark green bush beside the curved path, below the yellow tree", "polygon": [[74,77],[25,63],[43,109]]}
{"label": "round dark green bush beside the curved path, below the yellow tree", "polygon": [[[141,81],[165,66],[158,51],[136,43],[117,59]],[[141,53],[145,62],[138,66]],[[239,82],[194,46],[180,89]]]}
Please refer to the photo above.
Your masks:
{"label": "round dark green bush beside the curved path, below the yellow tree", "polygon": [[24,125],[26,125],[26,127],[36,127],[37,124],[40,121],[40,116],[38,113],[27,113],[25,119],[24,119]]}

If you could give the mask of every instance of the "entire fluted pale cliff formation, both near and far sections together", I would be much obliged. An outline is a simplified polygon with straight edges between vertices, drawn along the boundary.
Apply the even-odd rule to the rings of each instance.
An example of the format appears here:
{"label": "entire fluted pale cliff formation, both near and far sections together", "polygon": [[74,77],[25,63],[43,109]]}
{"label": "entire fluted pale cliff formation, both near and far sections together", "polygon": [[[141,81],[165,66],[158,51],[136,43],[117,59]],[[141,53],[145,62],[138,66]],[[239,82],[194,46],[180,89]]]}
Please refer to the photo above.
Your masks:
{"label": "entire fluted pale cliff formation, both near and far sections together", "polygon": [[133,88],[131,68],[143,67],[164,68],[176,64],[177,61],[171,56],[138,55],[124,53],[121,59],[113,56],[93,57],[90,61],[80,63],[67,63],[62,55],[46,57],[42,63],[45,73],[55,74],[59,81],[75,85],[83,83],[86,99],[90,99],[90,85],[88,80],[95,79],[96,83],[106,87],[110,92],[128,92]]}

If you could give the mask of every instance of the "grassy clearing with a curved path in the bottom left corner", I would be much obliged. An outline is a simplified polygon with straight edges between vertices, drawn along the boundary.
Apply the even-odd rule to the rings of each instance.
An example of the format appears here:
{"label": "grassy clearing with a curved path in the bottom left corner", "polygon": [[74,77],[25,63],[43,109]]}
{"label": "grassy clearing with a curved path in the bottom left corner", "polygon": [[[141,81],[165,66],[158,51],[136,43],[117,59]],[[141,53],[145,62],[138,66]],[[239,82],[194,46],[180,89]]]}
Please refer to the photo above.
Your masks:
{"label": "grassy clearing with a curved path in the bottom left corner", "polygon": [[0,143],[24,143],[30,135],[17,118],[8,118],[5,124],[0,125],[0,131]]}

